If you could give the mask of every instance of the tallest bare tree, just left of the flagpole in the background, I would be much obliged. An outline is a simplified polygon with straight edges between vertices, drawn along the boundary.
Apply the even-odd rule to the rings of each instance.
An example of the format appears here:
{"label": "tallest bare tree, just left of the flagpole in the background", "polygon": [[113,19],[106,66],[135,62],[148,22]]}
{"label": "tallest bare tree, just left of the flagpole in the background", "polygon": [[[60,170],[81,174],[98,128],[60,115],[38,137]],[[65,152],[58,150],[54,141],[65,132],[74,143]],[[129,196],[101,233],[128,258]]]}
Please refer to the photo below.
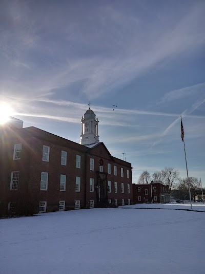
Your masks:
{"label": "tallest bare tree, just left of the flagpole in the background", "polygon": [[165,168],[161,171],[163,184],[169,185],[170,190],[176,187],[179,180],[179,172],[174,168]]}

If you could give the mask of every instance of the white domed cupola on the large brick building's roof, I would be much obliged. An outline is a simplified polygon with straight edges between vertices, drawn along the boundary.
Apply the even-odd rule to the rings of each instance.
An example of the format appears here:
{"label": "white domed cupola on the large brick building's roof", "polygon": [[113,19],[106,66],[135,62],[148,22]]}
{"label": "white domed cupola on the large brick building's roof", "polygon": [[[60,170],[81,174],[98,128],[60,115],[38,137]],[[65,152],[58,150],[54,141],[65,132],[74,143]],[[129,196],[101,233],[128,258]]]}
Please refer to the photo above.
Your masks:
{"label": "white domed cupola on the large brick building's roof", "polygon": [[92,144],[99,142],[98,135],[98,119],[95,119],[95,114],[92,109],[87,110],[87,112],[82,116],[81,119],[81,135],[80,144]]}

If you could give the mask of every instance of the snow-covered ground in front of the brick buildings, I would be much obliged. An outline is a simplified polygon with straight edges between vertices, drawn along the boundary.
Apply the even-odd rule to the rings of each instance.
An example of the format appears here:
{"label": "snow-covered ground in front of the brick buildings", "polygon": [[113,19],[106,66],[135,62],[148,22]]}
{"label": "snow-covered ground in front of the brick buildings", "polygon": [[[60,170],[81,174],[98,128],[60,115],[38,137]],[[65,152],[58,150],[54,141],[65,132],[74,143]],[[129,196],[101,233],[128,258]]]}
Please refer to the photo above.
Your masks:
{"label": "snow-covered ground in front of the brick buildings", "polygon": [[[149,209],[153,206],[168,210]],[[195,206],[205,211],[205,205]],[[169,209],[175,207],[190,205],[142,204],[0,220],[0,273],[202,274],[205,213]]]}

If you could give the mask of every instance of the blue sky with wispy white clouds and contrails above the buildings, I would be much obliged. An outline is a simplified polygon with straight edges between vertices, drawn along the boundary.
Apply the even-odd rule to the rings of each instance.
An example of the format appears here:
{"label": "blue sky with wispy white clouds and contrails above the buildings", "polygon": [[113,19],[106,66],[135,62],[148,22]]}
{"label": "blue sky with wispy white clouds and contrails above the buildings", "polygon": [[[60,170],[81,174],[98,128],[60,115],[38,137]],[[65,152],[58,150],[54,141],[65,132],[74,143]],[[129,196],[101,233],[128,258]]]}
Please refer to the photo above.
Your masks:
{"label": "blue sky with wispy white clouds and contrails above the buildings", "polygon": [[165,167],[187,176],[181,115],[189,176],[205,187],[204,12],[199,0],[2,0],[0,102],[77,143],[90,102],[133,183]]}

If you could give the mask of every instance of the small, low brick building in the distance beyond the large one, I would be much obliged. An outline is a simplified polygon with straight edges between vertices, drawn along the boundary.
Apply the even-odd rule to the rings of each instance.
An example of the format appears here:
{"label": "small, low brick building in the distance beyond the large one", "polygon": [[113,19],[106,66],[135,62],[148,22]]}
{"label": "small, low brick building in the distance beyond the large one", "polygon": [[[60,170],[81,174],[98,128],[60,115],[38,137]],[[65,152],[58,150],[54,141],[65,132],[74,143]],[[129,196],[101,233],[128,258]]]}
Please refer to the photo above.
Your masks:
{"label": "small, low brick building in the distance beyond the large one", "polygon": [[170,203],[169,185],[161,181],[151,181],[150,184],[133,184],[133,204]]}

